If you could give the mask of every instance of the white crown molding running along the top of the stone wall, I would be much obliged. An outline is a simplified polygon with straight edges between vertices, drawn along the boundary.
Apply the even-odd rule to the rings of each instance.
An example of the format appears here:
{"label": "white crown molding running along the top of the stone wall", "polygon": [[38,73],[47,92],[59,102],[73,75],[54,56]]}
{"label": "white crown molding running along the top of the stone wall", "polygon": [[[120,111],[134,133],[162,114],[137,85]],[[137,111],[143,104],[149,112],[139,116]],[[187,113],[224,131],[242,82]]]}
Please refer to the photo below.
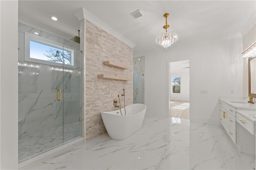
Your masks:
{"label": "white crown molding running along the top of the stone wall", "polygon": [[78,10],[78,12],[76,12],[74,14],[74,16],[76,16],[79,21],[82,20],[82,19],[90,21],[91,23],[93,23],[97,27],[101,28],[102,30],[106,31],[110,35],[114,36],[116,39],[119,39],[120,41],[129,45],[132,48],[134,48],[136,46],[136,44],[134,44],[132,41],[130,41],[129,39],[127,39],[126,37],[124,37],[123,35],[118,33],[112,27],[110,27],[109,25],[107,25],[106,23],[101,21],[99,18],[97,18],[96,16],[94,16],[92,13],[88,12],[84,8],[80,8],[80,10]]}

